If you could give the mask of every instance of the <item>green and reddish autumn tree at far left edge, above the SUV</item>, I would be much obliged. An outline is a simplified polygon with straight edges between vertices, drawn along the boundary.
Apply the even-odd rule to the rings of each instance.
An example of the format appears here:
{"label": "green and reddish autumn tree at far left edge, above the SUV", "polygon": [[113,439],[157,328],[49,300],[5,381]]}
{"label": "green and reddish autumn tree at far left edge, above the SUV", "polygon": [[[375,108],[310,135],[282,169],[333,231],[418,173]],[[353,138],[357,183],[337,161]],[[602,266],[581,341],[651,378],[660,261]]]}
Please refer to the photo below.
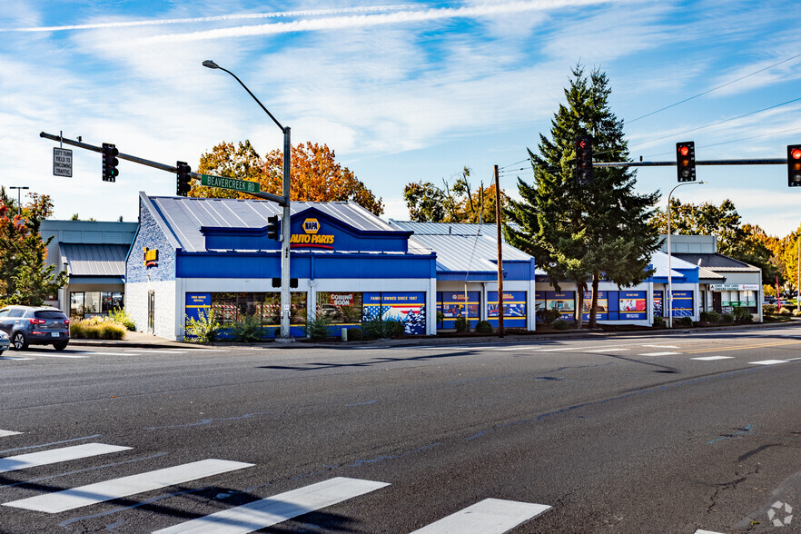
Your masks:
{"label": "green and reddish autumn tree at far left edge, above the SUV", "polygon": [[31,202],[17,213],[13,199],[0,187],[0,304],[38,306],[66,283],[66,272],[47,265],[47,245],[39,227],[53,213],[46,194],[31,193]]}

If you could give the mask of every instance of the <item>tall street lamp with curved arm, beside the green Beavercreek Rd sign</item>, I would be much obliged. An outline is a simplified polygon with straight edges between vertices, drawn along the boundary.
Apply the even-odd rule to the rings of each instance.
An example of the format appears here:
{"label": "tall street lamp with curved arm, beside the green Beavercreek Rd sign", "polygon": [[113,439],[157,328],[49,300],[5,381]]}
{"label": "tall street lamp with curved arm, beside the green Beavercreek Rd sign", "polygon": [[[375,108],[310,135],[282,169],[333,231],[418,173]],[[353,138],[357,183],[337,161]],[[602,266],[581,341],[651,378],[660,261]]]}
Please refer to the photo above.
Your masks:
{"label": "tall street lamp with curved arm, beside the green Beavercreek Rd sign", "polygon": [[208,67],[210,69],[220,69],[223,72],[231,74],[233,79],[239,82],[244,90],[248,92],[256,101],[256,104],[262,106],[264,113],[270,115],[272,122],[275,123],[281,131],[283,132],[283,215],[282,215],[282,225],[281,225],[281,232],[282,232],[282,245],[281,245],[281,337],[284,340],[289,340],[290,338],[290,304],[291,304],[291,297],[290,297],[290,219],[292,213],[290,212],[290,180],[291,180],[291,161],[292,158],[292,141],[290,139],[290,128],[289,126],[282,126],[275,117],[272,116],[270,111],[264,107],[258,98],[256,98],[255,94],[252,94],[251,90],[248,89],[247,85],[242,84],[242,80],[240,80],[236,74],[233,74],[231,71],[224,69],[220,65],[214,63],[211,59],[207,59],[203,62],[204,67]]}

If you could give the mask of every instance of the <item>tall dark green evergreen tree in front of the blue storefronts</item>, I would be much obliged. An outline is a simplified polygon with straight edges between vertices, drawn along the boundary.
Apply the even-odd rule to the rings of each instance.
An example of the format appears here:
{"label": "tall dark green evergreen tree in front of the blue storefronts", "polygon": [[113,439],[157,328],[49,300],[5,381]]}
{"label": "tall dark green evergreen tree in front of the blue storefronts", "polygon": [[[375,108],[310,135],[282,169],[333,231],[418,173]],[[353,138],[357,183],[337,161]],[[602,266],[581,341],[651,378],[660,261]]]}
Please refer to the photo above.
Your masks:
{"label": "tall dark green evergreen tree in front of the blue storefronts", "polygon": [[584,291],[591,282],[589,326],[596,326],[598,282],[618,287],[644,282],[648,263],[658,249],[659,235],[648,223],[659,193],[634,191],[635,172],[628,167],[594,167],[592,183],[578,185],[575,175],[576,138],[593,138],[594,163],[628,160],[623,122],[609,108],[606,74],[585,76],[578,65],[565,89],[567,104],[551,121],[550,139],[539,135],[539,153],[529,150],[534,183],[518,180],[521,201],[511,201],[507,240],[529,252],[560,291],[560,281],[578,288],[576,320],[581,326]]}

